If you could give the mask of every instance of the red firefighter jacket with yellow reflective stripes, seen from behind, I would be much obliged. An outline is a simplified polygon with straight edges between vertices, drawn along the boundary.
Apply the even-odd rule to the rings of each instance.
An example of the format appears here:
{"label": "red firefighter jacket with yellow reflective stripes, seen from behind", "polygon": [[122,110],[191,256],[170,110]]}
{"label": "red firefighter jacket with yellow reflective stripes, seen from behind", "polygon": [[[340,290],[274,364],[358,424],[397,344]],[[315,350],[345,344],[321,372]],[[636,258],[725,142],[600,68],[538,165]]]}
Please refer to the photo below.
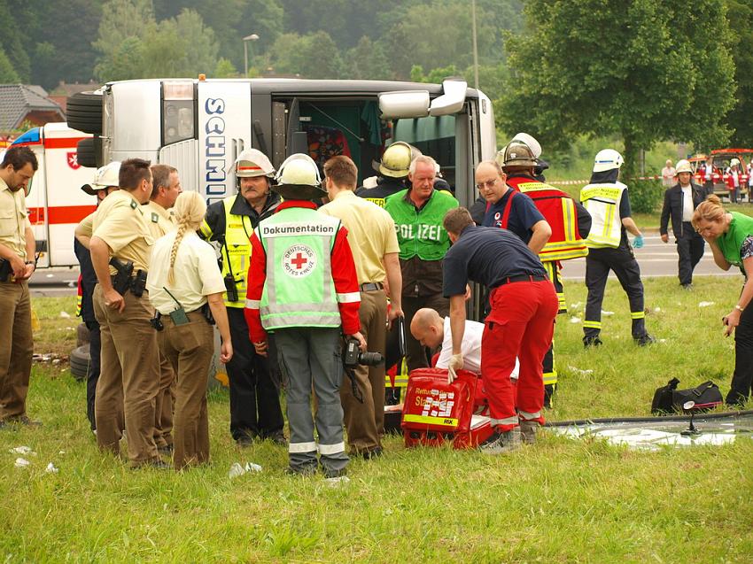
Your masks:
{"label": "red firefighter jacket with yellow reflective stripes, seen from behind", "polygon": [[533,200],[552,228],[552,236],[539,251],[542,261],[578,259],[588,254],[586,241],[578,231],[578,210],[570,196],[546,182],[526,176],[513,176],[507,182]]}

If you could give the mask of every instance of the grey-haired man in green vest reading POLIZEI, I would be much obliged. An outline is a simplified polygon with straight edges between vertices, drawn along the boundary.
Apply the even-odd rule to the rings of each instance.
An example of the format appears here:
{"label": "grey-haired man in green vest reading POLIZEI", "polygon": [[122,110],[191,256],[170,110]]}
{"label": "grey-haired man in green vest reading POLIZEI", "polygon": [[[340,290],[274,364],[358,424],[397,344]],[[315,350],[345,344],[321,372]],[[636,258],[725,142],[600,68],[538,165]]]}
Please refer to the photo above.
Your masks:
{"label": "grey-haired man in green vest reading POLIZEI", "polygon": [[[400,244],[406,327],[422,307],[431,307],[440,316],[449,314],[449,300],[442,296],[442,261],[450,239],[442,220],[458,202],[447,192],[434,189],[436,165],[426,155],[414,158],[408,173],[411,187],[387,197],[384,205],[395,221]],[[408,331],[406,361],[408,371],[429,366],[426,351]]]}

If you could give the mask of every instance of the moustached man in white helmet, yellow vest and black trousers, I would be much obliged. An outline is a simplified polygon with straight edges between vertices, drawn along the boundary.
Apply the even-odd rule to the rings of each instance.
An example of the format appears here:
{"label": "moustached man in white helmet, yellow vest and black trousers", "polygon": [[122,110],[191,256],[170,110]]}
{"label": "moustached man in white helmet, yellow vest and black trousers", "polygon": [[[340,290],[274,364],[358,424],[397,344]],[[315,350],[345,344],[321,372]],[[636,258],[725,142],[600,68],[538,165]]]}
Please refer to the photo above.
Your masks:
{"label": "moustached man in white helmet, yellow vest and black trousers", "polygon": [[240,446],[251,444],[255,437],[285,444],[276,351],[273,349],[266,357],[254,351],[244,317],[250,238],[260,220],[272,215],[280,205],[280,197],[270,191],[275,168],[261,151],[248,149],[238,155],[236,176],[237,195],[210,205],[199,233],[208,241],[220,243],[227,290],[225,305],[234,349],[228,363],[230,434]]}

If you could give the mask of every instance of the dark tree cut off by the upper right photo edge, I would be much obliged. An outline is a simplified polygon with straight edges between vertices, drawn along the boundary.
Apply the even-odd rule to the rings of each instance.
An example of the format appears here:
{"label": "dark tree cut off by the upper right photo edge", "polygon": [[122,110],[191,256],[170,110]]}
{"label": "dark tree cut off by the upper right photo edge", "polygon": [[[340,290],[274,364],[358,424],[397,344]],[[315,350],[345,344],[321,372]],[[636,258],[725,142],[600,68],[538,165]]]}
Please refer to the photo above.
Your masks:
{"label": "dark tree cut off by the upper right photo edge", "polygon": [[734,128],[735,147],[753,147],[753,5],[741,0],[727,0],[726,4],[737,83],[737,104],[729,112],[727,123]]}

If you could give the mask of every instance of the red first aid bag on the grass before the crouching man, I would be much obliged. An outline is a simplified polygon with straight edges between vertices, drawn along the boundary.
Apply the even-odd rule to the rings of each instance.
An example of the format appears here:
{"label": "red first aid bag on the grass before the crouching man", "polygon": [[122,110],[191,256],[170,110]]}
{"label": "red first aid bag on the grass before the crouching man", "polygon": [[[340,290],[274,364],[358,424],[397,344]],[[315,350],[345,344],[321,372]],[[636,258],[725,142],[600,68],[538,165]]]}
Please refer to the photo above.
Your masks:
{"label": "red first aid bag on the grass before the crouching man", "polygon": [[459,370],[447,383],[447,370],[419,368],[410,373],[403,403],[403,437],[408,447],[439,446],[446,441],[454,448],[472,448],[492,434],[489,419],[474,415],[481,379]]}

